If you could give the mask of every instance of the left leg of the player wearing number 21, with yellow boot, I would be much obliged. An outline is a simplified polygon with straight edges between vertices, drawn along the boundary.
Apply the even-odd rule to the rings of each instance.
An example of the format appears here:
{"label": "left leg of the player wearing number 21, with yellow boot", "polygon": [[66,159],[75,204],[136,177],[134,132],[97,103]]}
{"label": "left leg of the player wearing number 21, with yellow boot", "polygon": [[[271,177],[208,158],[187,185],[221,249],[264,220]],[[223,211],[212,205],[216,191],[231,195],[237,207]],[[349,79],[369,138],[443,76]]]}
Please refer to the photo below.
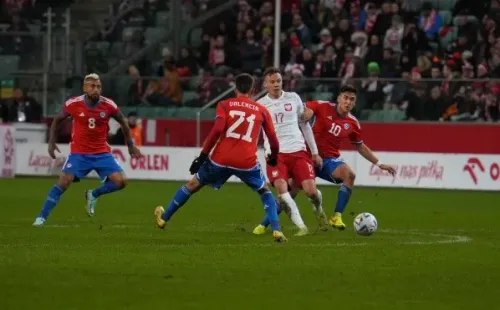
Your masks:
{"label": "left leg of the player wearing number 21, with yellow boot", "polygon": [[156,207],[156,226],[161,229],[165,228],[170,218],[203,186],[210,185],[218,189],[230,176],[230,172],[227,168],[218,167],[210,160],[207,160],[201,165],[200,169],[191,180],[177,189],[174,197],[172,197],[172,200],[168,203],[166,210],[161,206]]}

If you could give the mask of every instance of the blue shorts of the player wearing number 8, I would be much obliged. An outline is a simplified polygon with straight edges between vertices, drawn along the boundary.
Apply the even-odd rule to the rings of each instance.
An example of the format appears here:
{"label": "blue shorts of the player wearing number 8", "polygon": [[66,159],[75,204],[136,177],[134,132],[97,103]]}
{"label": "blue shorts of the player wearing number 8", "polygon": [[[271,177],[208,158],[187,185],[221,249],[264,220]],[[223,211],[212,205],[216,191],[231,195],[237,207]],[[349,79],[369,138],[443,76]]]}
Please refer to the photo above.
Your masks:
{"label": "blue shorts of the player wearing number 8", "polygon": [[95,170],[101,180],[106,179],[110,174],[122,172],[123,169],[111,153],[82,154],[71,153],[66,158],[62,171],[75,176],[78,182],[92,170]]}

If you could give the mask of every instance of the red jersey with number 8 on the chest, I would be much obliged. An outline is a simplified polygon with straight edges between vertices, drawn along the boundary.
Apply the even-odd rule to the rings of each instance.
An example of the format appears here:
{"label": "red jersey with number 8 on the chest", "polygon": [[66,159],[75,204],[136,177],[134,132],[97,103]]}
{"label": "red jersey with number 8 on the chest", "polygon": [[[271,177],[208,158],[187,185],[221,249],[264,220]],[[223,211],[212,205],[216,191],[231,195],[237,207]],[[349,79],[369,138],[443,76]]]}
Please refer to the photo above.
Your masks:
{"label": "red jersey with number 8 on the chest", "polygon": [[68,99],[64,113],[73,117],[71,153],[98,154],[111,151],[108,144],[109,119],[119,112],[113,100],[100,97],[95,106],[85,102],[85,95]]}

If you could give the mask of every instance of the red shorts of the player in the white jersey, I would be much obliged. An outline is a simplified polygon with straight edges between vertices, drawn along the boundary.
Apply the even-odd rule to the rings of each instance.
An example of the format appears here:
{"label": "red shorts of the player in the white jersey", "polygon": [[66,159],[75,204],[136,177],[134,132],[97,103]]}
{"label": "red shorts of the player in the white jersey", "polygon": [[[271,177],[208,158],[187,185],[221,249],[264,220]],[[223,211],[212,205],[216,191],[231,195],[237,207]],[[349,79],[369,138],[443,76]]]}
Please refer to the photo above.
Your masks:
{"label": "red shorts of the player in the white jersey", "polygon": [[311,155],[306,151],[295,153],[279,153],[276,166],[266,165],[267,177],[271,183],[283,179],[293,179],[296,186],[301,186],[305,180],[316,178]]}

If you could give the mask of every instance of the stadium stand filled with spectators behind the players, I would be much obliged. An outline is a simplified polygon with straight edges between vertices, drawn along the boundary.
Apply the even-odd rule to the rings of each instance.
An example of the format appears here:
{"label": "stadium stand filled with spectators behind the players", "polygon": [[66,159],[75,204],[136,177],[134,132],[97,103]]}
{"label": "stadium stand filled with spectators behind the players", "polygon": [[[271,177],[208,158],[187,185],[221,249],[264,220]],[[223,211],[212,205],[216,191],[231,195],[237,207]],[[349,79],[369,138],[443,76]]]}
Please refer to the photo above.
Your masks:
{"label": "stadium stand filled with spectators behind the players", "polygon": [[[223,2],[182,1],[182,23]],[[85,71],[106,73],[144,46],[162,43],[105,82],[112,85],[106,93],[126,110],[193,117],[235,74],[260,77],[273,64],[274,1],[241,0],[203,27],[175,29],[178,57],[161,41],[173,30],[170,8],[165,0],[116,2],[104,30],[84,45]],[[304,100],[330,100],[340,85],[353,83],[360,89],[356,114],[365,120],[496,121],[499,12],[496,0],[474,7],[465,0],[283,0],[286,89]],[[3,53],[0,63],[16,68],[19,54]]]}

